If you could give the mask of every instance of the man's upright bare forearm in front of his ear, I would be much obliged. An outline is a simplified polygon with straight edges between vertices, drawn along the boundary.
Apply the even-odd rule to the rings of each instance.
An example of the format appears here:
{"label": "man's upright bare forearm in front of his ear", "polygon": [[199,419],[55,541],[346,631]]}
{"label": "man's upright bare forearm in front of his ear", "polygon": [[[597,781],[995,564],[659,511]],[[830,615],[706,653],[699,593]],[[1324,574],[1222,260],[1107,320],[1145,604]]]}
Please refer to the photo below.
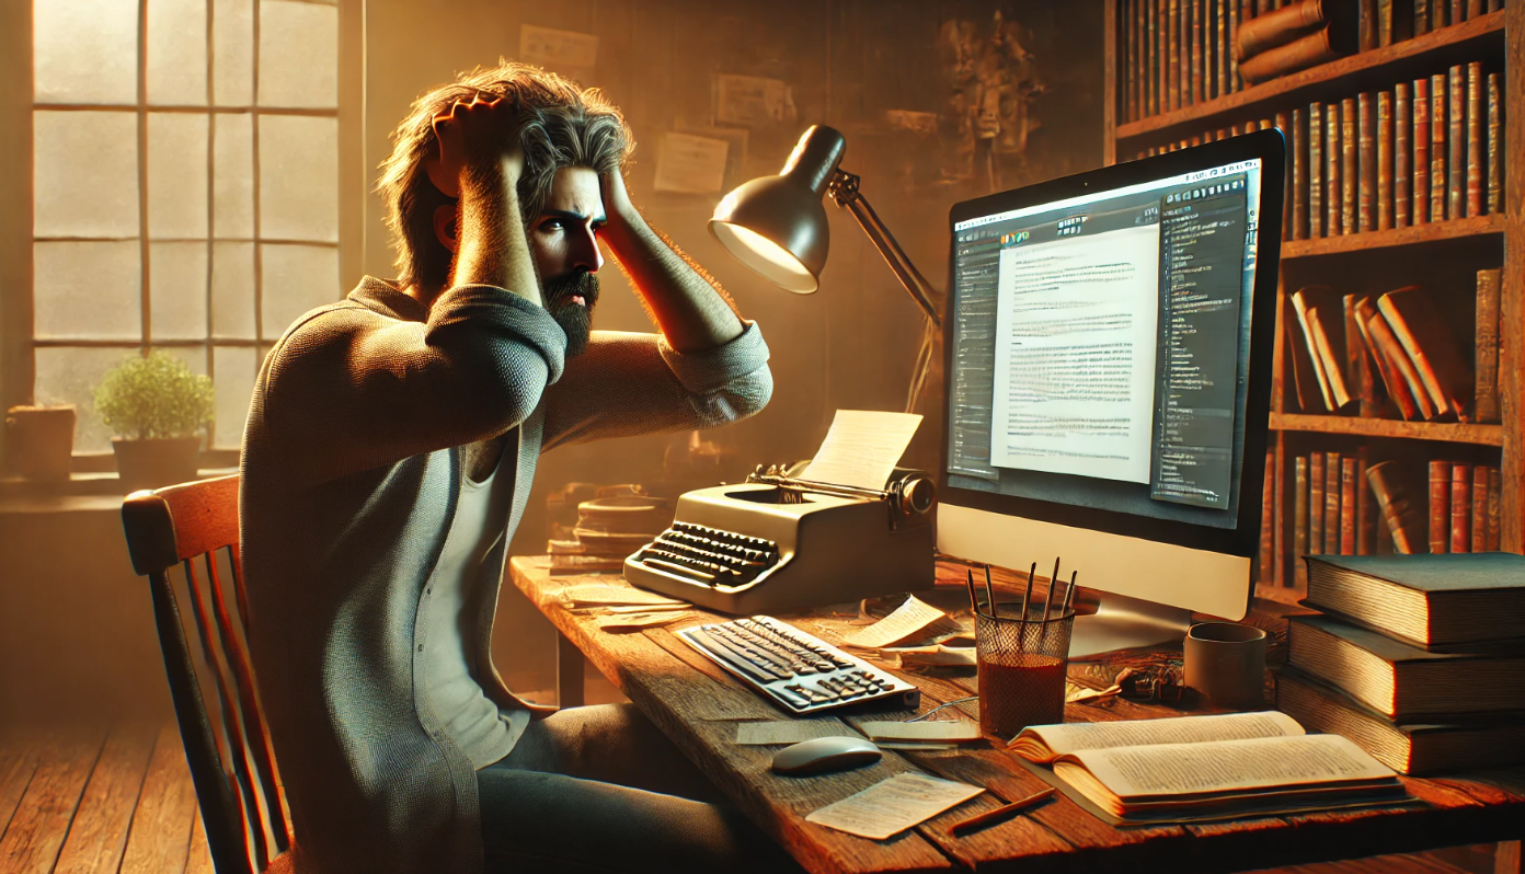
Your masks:
{"label": "man's upright bare forearm in front of his ear", "polygon": [[517,174],[490,163],[462,174],[453,285],[497,285],[541,305],[540,282],[518,215]]}

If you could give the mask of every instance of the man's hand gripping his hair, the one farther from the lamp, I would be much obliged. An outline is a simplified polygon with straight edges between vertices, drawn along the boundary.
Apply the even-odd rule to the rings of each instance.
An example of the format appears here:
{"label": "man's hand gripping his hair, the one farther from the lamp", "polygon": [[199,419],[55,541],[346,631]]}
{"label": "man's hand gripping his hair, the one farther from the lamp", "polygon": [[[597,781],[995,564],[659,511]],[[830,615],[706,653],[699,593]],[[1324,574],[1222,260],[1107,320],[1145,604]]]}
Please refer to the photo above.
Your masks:
{"label": "man's hand gripping his hair, the one farther from the lamp", "polygon": [[502,171],[509,185],[517,185],[525,171],[512,98],[476,95],[435,116],[435,154],[424,160],[429,182],[447,197],[461,197],[462,174],[480,171]]}

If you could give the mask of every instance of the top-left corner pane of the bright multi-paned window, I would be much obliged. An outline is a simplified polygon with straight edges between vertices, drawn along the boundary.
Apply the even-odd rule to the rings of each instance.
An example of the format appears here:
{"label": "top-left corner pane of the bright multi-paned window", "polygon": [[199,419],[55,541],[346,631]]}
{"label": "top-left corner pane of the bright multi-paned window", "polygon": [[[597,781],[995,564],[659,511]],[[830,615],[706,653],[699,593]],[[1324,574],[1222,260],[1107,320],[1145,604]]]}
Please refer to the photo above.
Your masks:
{"label": "top-left corner pane of the bright multi-paned window", "polygon": [[137,102],[136,0],[37,0],[32,52],[38,102]]}

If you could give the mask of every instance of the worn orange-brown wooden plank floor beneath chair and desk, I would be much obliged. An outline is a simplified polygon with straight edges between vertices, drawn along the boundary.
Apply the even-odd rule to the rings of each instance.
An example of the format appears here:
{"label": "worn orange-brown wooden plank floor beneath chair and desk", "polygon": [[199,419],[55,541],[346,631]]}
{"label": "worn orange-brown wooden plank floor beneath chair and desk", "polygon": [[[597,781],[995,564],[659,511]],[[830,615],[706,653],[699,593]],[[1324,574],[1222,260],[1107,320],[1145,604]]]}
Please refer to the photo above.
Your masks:
{"label": "worn orange-brown wooden plank floor beneath chair and desk", "polygon": [[[1493,871],[1493,859],[1491,848],[1455,848],[1286,871],[1484,874]],[[0,735],[0,872],[210,874],[175,726],[67,726]]]}

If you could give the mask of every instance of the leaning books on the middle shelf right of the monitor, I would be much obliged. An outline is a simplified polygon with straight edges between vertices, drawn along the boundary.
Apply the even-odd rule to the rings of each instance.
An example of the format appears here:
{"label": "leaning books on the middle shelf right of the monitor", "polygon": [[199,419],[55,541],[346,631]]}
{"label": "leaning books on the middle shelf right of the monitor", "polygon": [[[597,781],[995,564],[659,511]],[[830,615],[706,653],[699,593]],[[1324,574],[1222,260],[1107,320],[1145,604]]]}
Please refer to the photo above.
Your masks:
{"label": "leaning books on the middle shelf right of the monitor", "polygon": [[1498,423],[1502,275],[1476,276],[1470,354],[1420,285],[1382,294],[1307,285],[1289,294],[1289,410]]}

